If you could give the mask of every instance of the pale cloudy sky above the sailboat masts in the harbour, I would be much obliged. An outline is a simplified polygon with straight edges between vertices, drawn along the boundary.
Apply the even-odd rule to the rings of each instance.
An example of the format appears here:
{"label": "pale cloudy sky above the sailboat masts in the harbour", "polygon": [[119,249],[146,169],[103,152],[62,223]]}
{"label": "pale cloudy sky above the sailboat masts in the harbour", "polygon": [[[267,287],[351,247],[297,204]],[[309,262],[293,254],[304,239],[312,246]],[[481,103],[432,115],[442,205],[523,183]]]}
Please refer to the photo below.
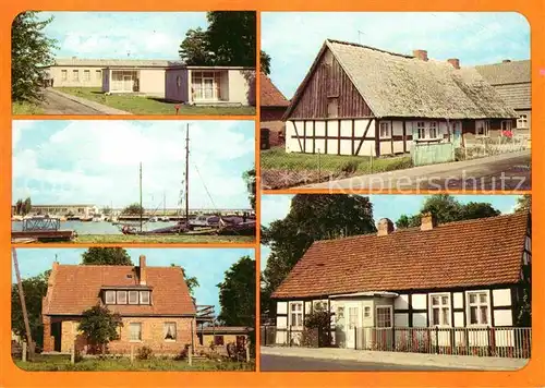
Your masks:
{"label": "pale cloudy sky above the sailboat masts in the harbour", "polygon": [[[179,207],[190,124],[190,207],[249,208],[253,121],[13,121],[13,202]],[[208,196],[206,189],[210,193]]]}

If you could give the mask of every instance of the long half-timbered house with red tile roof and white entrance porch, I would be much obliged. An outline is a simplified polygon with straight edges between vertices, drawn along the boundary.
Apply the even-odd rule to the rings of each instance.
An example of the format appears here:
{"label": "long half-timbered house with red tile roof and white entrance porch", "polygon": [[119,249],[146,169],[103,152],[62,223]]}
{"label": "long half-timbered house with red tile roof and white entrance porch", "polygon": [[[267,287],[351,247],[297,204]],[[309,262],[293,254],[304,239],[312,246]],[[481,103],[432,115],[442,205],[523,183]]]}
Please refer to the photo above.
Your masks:
{"label": "long half-timbered house with red tile roof and white entrance porch", "polygon": [[322,308],[340,348],[368,349],[367,332],[396,343],[429,330],[439,345],[513,345],[530,284],[528,213],[445,225],[423,215],[421,227],[401,230],[382,219],[376,234],[314,242],[271,295],[272,340],[298,343],[305,316]]}

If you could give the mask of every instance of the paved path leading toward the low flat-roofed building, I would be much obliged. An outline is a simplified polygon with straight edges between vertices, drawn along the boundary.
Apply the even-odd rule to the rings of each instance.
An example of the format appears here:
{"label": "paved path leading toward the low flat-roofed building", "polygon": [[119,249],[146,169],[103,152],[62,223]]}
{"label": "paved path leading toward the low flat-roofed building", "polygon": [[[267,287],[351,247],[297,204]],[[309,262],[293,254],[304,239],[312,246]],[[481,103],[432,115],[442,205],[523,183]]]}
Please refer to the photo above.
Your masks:
{"label": "paved path leading toward the low flat-roofed building", "polygon": [[52,88],[45,89],[44,97],[46,114],[132,114]]}

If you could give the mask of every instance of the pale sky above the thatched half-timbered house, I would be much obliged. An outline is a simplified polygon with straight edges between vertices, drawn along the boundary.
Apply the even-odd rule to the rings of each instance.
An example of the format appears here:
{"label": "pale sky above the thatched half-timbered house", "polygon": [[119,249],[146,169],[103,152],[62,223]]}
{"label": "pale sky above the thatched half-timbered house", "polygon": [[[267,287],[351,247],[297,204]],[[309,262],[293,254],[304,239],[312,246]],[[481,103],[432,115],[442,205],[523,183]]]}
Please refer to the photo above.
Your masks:
{"label": "pale sky above the thatched half-timbered house", "polygon": [[262,49],[271,80],[291,98],[327,38],[400,53],[427,50],[460,64],[530,58],[530,26],[513,12],[264,12]]}

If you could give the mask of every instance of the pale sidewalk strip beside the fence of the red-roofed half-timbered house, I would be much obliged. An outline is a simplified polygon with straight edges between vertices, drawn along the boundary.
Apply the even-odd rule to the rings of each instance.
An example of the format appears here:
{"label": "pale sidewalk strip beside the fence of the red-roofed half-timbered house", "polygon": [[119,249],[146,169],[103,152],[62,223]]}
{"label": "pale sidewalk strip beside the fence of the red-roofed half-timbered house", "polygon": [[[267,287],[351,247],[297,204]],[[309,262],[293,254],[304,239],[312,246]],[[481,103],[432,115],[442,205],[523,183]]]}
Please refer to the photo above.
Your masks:
{"label": "pale sidewalk strip beside the fence of the red-roofed half-timbered house", "polygon": [[422,367],[460,367],[475,371],[517,371],[524,367],[529,361],[524,359],[379,352],[336,348],[317,349],[261,347],[261,354],[281,355],[288,357],[359,361],[396,365],[417,365]]}

